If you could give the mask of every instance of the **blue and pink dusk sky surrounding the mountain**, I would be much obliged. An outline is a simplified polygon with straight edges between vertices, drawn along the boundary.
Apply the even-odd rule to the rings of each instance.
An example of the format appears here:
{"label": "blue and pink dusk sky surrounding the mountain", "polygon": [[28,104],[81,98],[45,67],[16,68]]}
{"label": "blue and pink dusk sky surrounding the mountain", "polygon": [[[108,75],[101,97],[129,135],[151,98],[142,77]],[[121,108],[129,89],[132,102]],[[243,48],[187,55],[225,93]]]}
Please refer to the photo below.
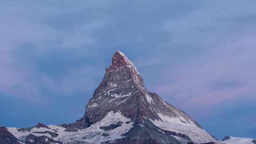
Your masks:
{"label": "blue and pink dusk sky surrounding the mountain", "polygon": [[256,0],[1,0],[0,126],[83,117],[120,50],[210,134],[256,138]]}

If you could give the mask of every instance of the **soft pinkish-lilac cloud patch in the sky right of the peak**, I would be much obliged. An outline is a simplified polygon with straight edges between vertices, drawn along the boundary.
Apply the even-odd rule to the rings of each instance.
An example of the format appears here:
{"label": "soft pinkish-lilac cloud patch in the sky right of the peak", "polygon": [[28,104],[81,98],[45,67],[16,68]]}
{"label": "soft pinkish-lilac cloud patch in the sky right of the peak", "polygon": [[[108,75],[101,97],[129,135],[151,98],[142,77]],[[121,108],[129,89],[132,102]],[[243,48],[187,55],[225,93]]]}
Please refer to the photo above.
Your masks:
{"label": "soft pinkish-lilac cloud patch in the sky right of the peak", "polygon": [[[156,86],[162,95],[186,105],[215,105],[233,99],[256,99],[255,36],[238,39],[170,71],[175,81]],[[231,81],[224,84],[225,81]],[[237,83],[232,83],[237,81]],[[235,85],[235,86],[234,86]],[[218,86],[218,89],[214,89]]]}

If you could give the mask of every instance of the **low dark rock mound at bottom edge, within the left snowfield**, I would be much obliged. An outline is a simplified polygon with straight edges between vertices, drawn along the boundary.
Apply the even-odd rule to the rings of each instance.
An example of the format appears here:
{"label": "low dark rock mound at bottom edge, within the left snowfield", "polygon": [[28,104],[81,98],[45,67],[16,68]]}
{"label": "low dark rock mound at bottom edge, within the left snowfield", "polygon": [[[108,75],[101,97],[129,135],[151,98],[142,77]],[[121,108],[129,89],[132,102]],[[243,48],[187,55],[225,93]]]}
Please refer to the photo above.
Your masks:
{"label": "low dark rock mound at bottom edge, within the left snowfield", "polygon": [[27,135],[26,144],[62,144],[62,142],[55,141],[47,136]]}

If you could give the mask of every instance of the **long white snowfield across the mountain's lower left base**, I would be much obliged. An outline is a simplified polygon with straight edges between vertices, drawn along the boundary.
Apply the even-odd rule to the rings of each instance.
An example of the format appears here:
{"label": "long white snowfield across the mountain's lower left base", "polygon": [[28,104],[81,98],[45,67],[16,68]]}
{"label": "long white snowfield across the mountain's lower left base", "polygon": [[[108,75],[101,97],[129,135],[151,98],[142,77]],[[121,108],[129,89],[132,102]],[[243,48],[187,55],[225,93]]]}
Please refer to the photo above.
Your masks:
{"label": "long white snowfield across the mountain's lower left base", "polygon": [[[104,130],[101,129],[101,126],[110,126],[111,124],[117,124],[118,122],[122,122],[121,126],[118,126],[112,130]],[[106,117],[104,117],[101,121],[91,125],[88,128],[84,128],[82,130],[78,130],[77,132],[67,132],[66,128],[61,126],[48,125],[48,128],[45,127],[34,127],[31,131],[18,131],[18,128],[15,127],[7,127],[8,131],[12,133],[16,138],[21,141],[25,141],[26,136],[29,134],[33,134],[36,136],[45,135],[49,138],[54,139],[55,141],[61,141],[63,144],[72,144],[73,142],[88,142],[89,144],[101,144],[101,142],[105,141],[114,141],[115,139],[120,139],[123,136],[122,134],[128,132],[130,128],[133,126],[133,122],[130,122],[130,119],[124,117],[120,112],[114,113],[113,111],[109,112]],[[57,133],[57,137],[52,137],[50,134],[40,134],[37,132],[52,132]],[[103,136],[102,134],[108,134],[109,136]]]}

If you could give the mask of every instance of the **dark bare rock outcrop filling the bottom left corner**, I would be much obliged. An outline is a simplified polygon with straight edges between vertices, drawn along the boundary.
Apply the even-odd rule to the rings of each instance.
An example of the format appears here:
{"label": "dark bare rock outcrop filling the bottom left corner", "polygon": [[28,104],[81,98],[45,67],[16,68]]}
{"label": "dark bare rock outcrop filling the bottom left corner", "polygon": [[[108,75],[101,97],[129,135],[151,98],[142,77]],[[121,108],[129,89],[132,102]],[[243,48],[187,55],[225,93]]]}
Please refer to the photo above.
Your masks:
{"label": "dark bare rock outcrop filling the bottom left corner", "polygon": [[0,126],[0,144],[19,144],[19,141],[5,127]]}

